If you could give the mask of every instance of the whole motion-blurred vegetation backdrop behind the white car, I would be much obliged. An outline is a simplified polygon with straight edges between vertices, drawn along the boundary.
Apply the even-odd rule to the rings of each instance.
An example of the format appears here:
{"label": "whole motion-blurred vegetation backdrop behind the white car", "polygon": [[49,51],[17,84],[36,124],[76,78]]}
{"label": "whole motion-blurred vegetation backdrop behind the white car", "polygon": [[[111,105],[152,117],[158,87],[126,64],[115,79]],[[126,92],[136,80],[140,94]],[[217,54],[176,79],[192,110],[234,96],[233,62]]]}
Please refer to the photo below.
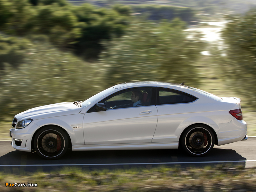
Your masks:
{"label": "whole motion-blurred vegetation backdrop behind the white car", "polygon": [[[256,0],[0,0],[0,130],[14,115],[157,80],[240,97],[256,135]],[[239,8],[239,9],[236,9]],[[235,12],[235,11],[236,12]],[[225,21],[209,43],[189,28]],[[210,54],[202,54],[207,51]]]}

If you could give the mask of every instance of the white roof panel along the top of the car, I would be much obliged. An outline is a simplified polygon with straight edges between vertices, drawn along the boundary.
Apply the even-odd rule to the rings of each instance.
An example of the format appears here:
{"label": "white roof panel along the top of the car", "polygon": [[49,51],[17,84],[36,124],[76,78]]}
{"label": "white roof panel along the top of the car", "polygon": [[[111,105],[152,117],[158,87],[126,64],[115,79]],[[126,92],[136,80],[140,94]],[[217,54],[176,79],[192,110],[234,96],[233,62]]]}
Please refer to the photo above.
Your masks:
{"label": "white roof panel along the top of the car", "polygon": [[157,81],[136,81],[136,82],[128,82],[128,83],[121,83],[114,85],[113,87],[115,89],[119,89],[121,87],[125,86],[143,86],[143,85],[152,85],[152,86],[159,86],[159,85],[172,85],[172,86],[178,86],[178,87],[187,87],[186,85],[182,84],[176,84],[176,83],[167,83],[167,82],[157,82]]}

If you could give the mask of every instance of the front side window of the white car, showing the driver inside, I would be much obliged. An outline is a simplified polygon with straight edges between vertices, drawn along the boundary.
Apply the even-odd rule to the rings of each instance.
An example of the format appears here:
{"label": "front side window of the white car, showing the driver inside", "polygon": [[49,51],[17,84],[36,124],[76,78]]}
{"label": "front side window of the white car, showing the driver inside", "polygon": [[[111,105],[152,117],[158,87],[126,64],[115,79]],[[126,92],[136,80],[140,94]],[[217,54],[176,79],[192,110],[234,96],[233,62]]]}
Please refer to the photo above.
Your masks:
{"label": "front side window of the white car, showing the driver inside", "polygon": [[151,104],[152,88],[135,88],[118,92],[102,100],[108,109],[148,106]]}

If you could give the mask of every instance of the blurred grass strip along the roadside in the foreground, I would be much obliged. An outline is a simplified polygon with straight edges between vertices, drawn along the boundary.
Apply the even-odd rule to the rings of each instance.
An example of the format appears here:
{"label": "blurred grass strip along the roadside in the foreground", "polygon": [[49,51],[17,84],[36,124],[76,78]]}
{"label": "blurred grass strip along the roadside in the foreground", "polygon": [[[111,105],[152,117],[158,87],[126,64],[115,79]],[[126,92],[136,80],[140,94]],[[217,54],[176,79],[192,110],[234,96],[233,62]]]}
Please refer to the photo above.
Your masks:
{"label": "blurred grass strip along the roadside in the foreground", "polygon": [[[255,191],[256,169],[224,167],[88,171],[64,168],[59,172],[2,173],[0,191]],[[5,183],[36,183],[37,187],[5,187]]]}

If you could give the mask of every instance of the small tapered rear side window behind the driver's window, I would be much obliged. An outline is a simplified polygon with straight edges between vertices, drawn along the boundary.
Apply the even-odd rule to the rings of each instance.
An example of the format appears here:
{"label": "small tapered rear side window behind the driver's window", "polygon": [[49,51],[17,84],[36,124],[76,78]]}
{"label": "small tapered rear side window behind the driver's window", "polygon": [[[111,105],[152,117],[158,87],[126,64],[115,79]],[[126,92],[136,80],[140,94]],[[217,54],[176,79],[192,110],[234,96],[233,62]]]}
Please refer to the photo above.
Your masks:
{"label": "small tapered rear side window behind the driver's window", "polygon": [[171,89],[159,89],[157,90],[157,104],[174,104],[174,103],[189,103],[197,98],[184,92],[171,90]]}

